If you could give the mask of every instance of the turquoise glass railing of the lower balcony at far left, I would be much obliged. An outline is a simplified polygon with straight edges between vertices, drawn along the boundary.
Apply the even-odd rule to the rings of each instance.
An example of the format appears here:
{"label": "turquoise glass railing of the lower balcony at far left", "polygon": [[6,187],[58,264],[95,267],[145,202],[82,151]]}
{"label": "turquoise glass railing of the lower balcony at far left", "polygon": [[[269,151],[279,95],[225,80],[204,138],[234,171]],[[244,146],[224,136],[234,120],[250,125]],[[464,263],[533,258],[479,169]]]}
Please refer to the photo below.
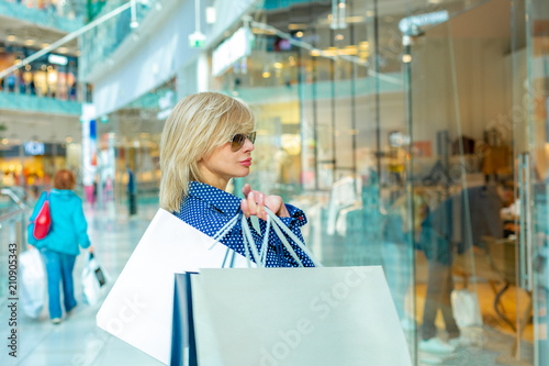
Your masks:
{"label": "turquoise glass railing of the lower balcony at far left", "polygon": [[0,92],[0,110],[2,109],[12,111],[80,115],[82,112],[82,104],[71,100],[59,100],[15,92]]}

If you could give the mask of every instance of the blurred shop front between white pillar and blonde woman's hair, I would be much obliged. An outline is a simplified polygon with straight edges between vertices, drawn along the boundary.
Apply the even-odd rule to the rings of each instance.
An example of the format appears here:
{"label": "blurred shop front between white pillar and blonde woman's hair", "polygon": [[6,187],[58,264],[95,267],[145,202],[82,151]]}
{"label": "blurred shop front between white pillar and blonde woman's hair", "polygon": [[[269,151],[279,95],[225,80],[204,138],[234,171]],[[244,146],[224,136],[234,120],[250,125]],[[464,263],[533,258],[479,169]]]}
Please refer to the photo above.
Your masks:
{"label": "blurred shop front between white pillar and blonde woman's hair", "polygon": [[91,123],[97,142],[91,138],[88,154],[90,199],[99,207],[112,202],[125,210],[133,190],[138,204],[158,202],[160,135],[177,103],[175,88],[172,78]]}

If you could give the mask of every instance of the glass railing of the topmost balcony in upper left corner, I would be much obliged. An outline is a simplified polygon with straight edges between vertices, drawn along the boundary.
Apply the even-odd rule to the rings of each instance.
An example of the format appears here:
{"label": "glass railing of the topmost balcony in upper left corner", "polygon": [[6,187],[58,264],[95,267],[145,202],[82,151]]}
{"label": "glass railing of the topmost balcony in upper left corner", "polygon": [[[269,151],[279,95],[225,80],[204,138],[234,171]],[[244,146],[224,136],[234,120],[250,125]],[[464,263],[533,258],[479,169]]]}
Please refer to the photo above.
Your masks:
{"label": "glass railing of the topmost balcony in upper left corner", "polygon": [[0,14],[63,32],[83,24],[85,1],[0,0]]}

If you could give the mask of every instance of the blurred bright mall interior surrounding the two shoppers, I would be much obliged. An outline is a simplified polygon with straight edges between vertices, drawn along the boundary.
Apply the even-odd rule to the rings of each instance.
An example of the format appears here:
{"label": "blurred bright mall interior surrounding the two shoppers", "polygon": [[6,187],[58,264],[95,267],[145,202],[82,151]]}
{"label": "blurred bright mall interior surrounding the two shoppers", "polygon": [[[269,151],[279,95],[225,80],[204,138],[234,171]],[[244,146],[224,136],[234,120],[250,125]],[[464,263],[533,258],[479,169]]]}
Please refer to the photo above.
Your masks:
{"label": "blurred bright mall interior surrounding the two shoppers", "polygon": [[[8,244],[30,251],[54,174],[110,289],[159,208],[164,125],[202,91],[255,114],[228,191],[303,210],[326,267],[382,266],[412,365],[549,365],[547,0],[0,0],[2,339]],[[86,258],[75,311],[21,308],[1,365],[161,364],[97,326]]]}

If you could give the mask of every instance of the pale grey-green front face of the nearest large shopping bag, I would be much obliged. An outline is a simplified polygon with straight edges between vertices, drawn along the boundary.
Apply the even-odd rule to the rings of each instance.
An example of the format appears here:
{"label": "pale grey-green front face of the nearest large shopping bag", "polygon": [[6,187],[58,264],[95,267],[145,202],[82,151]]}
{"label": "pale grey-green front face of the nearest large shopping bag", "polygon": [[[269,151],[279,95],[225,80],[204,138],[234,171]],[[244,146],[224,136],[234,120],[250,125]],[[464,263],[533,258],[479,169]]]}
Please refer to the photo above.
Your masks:
{"label": "pale grey-green front face of the nearest large shopping bag", "polygon": [[412,365],[380,266],[201,269],[200,366]]}

